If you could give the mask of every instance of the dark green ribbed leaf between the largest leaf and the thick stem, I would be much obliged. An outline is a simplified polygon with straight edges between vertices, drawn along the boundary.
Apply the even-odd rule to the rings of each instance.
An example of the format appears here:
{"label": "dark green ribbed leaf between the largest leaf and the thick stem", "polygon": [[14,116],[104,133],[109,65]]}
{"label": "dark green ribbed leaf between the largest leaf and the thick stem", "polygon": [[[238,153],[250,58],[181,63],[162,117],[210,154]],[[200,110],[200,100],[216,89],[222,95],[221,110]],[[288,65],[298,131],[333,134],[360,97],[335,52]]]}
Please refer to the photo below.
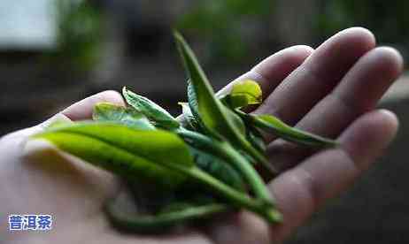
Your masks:
{"label": "dark green ribbed leaf between the largest leaf and the thick stem", "polygon": [[218,156],[201,149],[189,147],[194,161],[198,168],[209,173],[212,177],[219,179],[228,186],[241,192],[245,191],[245,184],[242,176],[235,169]]}

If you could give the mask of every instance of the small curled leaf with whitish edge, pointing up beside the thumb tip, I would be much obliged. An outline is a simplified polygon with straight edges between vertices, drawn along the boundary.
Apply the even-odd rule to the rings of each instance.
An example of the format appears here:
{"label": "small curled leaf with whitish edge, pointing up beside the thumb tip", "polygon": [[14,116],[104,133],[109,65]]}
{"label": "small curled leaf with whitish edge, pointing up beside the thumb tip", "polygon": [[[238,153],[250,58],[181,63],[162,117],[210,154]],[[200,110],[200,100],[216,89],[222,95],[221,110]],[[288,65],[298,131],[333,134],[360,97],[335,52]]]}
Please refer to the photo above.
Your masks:
{"label": "small curled leaf with whitish edge, pointing up beside the thumb tip", "polygon": [[143,113],[155,126],[166,129],[175,129],[180,126],[179,122],[170,113],[148,98],[137,95],[127,88],[123,88],[122,94],[129,105],[134,107],[136,111]]}

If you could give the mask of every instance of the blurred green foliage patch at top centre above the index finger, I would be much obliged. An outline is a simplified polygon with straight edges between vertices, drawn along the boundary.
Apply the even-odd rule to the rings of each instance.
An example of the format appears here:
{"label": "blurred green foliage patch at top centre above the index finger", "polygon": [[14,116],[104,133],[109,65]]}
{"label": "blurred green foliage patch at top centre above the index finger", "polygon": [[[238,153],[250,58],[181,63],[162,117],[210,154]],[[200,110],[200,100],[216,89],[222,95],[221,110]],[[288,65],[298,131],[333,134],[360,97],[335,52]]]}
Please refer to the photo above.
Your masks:
{"label": "blurred green foliage patch at top centre above the index finger", "polygon": [[199,0],[190,4],[176,26],[208,41],[211,57],[240,62],[247,56],[250,42],[243,40],[243,21],[266,23],[272,8],[269,0]]}

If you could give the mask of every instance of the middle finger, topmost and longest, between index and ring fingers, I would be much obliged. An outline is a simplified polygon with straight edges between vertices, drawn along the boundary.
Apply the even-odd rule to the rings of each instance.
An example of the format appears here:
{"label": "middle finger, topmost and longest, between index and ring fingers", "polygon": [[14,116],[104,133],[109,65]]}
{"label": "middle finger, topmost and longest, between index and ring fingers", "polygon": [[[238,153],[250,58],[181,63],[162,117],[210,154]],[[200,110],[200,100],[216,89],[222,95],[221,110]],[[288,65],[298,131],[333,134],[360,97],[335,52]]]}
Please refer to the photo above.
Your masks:
{"label": "middle finger, topmost and longest, between index and ring fingers", "polygon": [[292,72],[269,95],[256,113],[270,113],[295,125],[368,50],[374,48],[374,35],[353,27],[335,34]]}

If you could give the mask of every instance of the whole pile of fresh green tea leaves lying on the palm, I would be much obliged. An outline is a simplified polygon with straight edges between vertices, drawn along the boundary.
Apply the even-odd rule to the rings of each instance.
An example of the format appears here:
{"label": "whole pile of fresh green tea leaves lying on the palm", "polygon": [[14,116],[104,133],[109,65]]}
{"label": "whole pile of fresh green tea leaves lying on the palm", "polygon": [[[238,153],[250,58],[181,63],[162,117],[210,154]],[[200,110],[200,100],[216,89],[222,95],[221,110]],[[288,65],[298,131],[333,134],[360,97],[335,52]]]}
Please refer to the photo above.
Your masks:
{"label": "whole pile of fresh green tea leaves lying on the palm", "polygon": [[[255,170],[275,177],[263,133],[317,149],[336,146],[268,114],[245,112],[262,103],[253,80],[215,95],[192,50],[175,33],[188,74],[188,102],[169,112],[127,88],[127,106],[97,103],[93,120],[55,123],[34,139],[114,173],[135,194],[137,214],[106,202],[112,224],[137,233],[169,229],[228,211],[249,210],[270,224],[282,221],[274,196]],[[259,164],[259,165],[258,165]],[[136,201],[137,200],[137,201]]]}

